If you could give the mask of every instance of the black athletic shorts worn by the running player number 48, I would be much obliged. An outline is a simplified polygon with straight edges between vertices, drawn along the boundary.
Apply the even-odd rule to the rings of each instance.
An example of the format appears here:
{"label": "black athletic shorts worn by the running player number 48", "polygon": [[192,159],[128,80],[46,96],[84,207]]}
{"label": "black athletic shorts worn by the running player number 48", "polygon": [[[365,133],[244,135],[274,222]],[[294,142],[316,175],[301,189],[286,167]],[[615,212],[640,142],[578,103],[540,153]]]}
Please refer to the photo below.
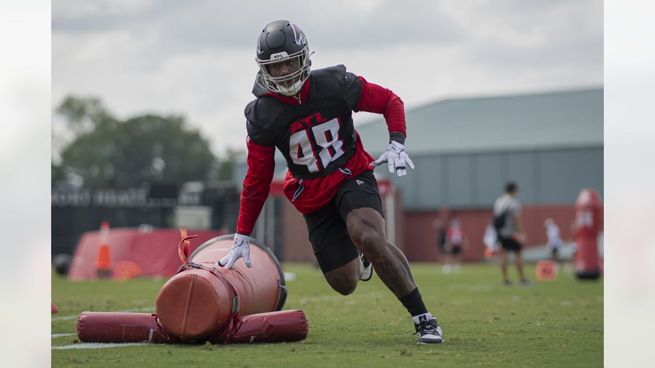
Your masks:
{"label": "black athletic shorts worn by the running player number 48", "polygon": [[346,229],[346,217],[350,211],[365,207],[373,208],[384,218],[373,170],[347,179],[324,208],[303,215],[309,242],[323,273],[359,257]]}

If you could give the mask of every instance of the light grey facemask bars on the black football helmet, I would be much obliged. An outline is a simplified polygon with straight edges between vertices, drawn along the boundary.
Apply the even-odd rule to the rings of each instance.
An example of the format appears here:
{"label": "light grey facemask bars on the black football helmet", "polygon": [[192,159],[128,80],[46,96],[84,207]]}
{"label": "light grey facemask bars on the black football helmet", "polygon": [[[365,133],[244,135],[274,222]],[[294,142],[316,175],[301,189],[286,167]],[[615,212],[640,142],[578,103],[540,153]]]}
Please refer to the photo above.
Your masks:
{"label": "light grey facemask bars on the black football helmet", "polygon": [[[277,62],[283,62],[292,58],[297,58],[299,69],[291,74],[282,77],[273,77],[269,71],[269,66]],[[264,77],[265,87],[271,92],[282,94],[284,96],[295,96],[300,92],[309,78],[309,47],[305,46],[299,52],[288,55],[285,51],[272,54],[269,60],[259,60],[255,58],[261,74]],[[291,83],[289,83],[291,82]],[[289,84],[289,86],[287,86]]]}

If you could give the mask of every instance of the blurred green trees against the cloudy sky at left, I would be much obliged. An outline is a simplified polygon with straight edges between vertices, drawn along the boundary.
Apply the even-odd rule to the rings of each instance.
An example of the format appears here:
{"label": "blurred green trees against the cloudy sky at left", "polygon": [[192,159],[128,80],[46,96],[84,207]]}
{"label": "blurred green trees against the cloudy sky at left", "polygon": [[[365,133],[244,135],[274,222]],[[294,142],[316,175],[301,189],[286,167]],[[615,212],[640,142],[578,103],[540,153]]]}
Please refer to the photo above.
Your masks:
{"label": "blurred green trees against the cloudy sky at left", "polygon": [[94,97],[67,96],[57,107],[73,139],[52,161],[52,184],[139,187],[143,183],[232,180],[245,153],[219,158],[210,142],[181,115],[117,119]]}

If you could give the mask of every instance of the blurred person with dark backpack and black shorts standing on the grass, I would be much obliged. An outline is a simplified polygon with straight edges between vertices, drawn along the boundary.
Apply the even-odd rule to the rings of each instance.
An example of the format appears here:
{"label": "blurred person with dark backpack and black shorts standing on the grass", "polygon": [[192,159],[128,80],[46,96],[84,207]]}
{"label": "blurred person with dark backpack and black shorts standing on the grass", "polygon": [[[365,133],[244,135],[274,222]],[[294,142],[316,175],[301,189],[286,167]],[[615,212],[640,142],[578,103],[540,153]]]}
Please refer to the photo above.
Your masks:
{"label": "blurred person with dark backpack and black shorts standing on the grass", "polygon": [[496,199],[493,205],[494,226],[500,242],[500,270],[502,271],[502,282],[505,285],[512,285],[507,274],[508,252],[514,252],[514,263],[519,271],[521,284],[529,285],[531,282],[525,278],[523,273],[523,257],[521,256],[522,244],[527,240],[523,225],[521,224],[521,202],[517,198],[519,188],[513,181],[505,185],[505,193]]}

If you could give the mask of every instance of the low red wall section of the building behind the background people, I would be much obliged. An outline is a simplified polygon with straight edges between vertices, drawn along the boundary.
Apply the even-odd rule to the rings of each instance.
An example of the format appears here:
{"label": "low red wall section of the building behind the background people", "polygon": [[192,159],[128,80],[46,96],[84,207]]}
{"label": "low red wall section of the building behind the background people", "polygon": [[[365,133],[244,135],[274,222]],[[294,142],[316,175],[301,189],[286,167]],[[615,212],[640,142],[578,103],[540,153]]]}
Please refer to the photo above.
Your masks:
{"label": "low red wall section of the building behind the background people", "polygon": [[[448,210],[405,213],[405,256],[410,262],[434,262],[437,257],[437,234],[432,221],[441,215],[444,223],[458,217],[468,236],[468,249],[464,261],[479,261],[484,257],[482,237],[489,221],[491,209]],[[550,217],[559,225],[562,240],[571,238],[571,223],[575,212],[572,204],[555,206],[523,206],[521,220],[528,240],[526,248],[546,244],[544,221]]]}

